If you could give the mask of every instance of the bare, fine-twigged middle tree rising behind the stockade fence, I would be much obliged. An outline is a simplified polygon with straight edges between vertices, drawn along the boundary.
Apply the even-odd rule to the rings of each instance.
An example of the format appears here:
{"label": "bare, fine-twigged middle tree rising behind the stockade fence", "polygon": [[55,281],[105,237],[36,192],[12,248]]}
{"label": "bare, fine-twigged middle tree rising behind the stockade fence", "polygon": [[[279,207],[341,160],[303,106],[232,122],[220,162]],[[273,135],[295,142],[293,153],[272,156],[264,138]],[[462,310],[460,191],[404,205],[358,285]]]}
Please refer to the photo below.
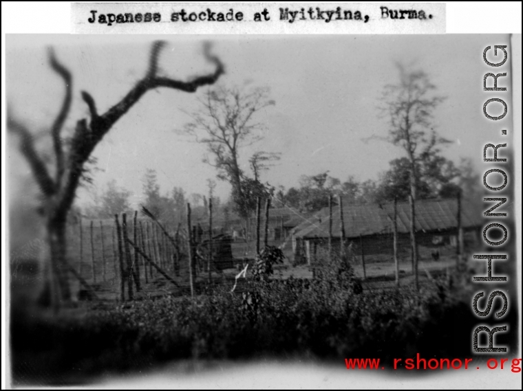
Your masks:
{"label": "bare, fine-twigged middle tree rising behind the stockade fence", "polygon": [[246,177],[239,167],[239,149],[261,139],[265,126],[255,120],[255,113],[275,102],[268,98],[266,88],[226,87],[209,89],[199,101],[200,107],[188,113],[192,121],[180,133],[206,144],[214,159],[206,157],[204,162],[217,168],[220,179],[231,183],[237,212],[245,219],[249,210],[242,187]]}

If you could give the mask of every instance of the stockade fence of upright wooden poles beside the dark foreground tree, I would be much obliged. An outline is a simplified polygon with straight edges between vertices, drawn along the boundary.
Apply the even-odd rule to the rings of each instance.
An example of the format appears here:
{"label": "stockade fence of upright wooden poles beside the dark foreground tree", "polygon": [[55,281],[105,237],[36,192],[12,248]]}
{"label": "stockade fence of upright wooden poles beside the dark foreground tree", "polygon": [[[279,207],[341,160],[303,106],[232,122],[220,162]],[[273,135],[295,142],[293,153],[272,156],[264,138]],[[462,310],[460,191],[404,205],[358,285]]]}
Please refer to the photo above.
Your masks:
{"label": "stockade fence of upright wooden poles beside the dark foreground tree", "polygon": [[[264,245],[268,245],[270,201],[265,207]],[[79,281],[79,298],[125,301],[166,293],[195,295],[210,284],[229,284],[231,278],[232,286],[234,274],[227,279],[222,272],[235,267],[231,239],[213,228],[212,200],[205,230],[191,221],[190,203],[184,225],[162,223],[147,208],[141,212],[80,219],[70,225],[70,271]]]}

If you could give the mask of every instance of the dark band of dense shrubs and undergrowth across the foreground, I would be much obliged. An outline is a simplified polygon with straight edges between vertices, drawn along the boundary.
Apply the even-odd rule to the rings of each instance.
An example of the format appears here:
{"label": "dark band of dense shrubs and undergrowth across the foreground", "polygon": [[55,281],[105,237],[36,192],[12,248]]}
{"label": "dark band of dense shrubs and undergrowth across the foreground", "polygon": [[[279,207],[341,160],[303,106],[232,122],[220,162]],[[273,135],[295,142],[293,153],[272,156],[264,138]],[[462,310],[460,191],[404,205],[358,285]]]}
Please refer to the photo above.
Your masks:
{"label": "dark band of dense shrubs and undergrowth across the foreground", "polygon": [[250,278],[241,291],[215,287],[194,299],[92,303],[98,308],[80,318],[13,313],[14,379],[77,382],[78,374],[145,370],[193,358],[380,357],[390,368],[394,357],[416,353],[469,355],[476,319],[443,281],[419,293],[409,287],[362,291],[350,269],[324,269],[316,276]]}

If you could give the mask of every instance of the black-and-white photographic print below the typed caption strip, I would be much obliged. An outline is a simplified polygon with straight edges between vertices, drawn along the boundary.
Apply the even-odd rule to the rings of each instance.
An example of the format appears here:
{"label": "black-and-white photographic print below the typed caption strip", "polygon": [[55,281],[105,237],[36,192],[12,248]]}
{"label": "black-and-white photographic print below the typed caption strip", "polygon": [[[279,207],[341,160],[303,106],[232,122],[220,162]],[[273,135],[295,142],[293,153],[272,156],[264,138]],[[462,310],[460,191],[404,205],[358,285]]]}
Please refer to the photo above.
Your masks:
{"label": "black-and-white photographic print below the typed caption strip", "polygon": [[520,372],[508,36],[71,39],[7,39],[12,386]]}

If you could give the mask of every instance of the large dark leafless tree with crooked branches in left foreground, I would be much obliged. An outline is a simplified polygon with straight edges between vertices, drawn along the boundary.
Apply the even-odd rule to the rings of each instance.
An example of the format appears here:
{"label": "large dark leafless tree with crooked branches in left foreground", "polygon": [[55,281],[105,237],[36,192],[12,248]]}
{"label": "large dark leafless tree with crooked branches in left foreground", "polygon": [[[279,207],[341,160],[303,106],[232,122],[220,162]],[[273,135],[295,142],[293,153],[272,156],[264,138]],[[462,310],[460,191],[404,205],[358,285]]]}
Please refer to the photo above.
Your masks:
{"label": "large dark leafless tree with crooked branches in left foreground", "polygon": [[[188,81],[160,76],[158,58],[164,46],[163,41],[153,43],[145,75],[105,113],[98,113],[94,98],[87,91],[82,91],[81,96],[89,108],[90,118],[89,120],[82,118],[76,122],[76,128],[70,139],[64,137],[62,131],[72,104],[72,74],[56,58],[54,50],[50,49],[50,67],[61,77],[65,85],[65,96],[61,109],[50,127],[54,150],[54,172],[36,150],[32,131],[19,118],[16,118],[11,110],[8,111],[8,130],[19,136],[20,151],[30,165],[43,199],[42,210],[45,217],[47,240],[50,244],[49,266],[52,271],[51,278],[45,282],[44,293],[50,294],[50,300],[56,306],[60,302],[68,302],[71,298],[67,271],[72,273],[76,273],[76,271],[66,262],[65,222],[78,184],[85,175],[85,163],[89,160],[96,145],[147,91],[166,87],[184,92],[195,92],[198,87],[212,85],[224,72],[221,61],[211,54],[210,46],[205,45],[204,56],[215,66],[215,70],[211,74],[198,76]],[[54,284],[54,281],[57,283]]]}

